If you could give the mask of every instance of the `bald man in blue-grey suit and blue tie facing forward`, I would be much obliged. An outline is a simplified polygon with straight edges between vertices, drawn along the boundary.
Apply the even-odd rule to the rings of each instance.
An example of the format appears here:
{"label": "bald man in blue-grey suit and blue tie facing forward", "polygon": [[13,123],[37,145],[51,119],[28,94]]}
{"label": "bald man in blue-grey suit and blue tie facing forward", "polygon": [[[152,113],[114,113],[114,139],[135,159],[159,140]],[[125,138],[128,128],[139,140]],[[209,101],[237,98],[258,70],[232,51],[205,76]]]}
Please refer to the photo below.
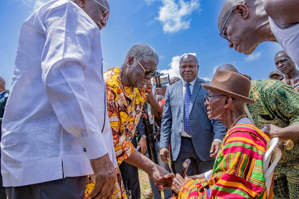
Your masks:
{"label": "bald man in blue-grey suit and blue tie facing forward", "polygon": [[213,168],[225,127],[217,120],[212,124],[208,119],[204,105],[208,91],[201,86],[206,81],[197,77],[196,57],[185,55],[179,63],[182,80],[170,85],[165,94],[160,156],[163,161],[168,161],[171,143],[171,160],[176,172],[182,172],[182,163],[189,158],[187,175],[195,175]]}

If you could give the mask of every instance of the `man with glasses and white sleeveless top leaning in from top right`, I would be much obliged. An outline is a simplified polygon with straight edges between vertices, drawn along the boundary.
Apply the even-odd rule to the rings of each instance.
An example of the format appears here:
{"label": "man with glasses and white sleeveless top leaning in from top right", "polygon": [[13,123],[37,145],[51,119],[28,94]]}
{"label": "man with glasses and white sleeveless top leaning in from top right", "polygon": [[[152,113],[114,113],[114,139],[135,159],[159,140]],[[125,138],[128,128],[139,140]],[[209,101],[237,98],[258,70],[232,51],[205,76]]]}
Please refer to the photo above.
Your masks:
{"label": "man with glasses and white sleeveless top leaning in from top right", "polygon": [[230,48],[251,54],[262,42],[278,42],[299,65],[299,1],[225,0],[218,18]]}

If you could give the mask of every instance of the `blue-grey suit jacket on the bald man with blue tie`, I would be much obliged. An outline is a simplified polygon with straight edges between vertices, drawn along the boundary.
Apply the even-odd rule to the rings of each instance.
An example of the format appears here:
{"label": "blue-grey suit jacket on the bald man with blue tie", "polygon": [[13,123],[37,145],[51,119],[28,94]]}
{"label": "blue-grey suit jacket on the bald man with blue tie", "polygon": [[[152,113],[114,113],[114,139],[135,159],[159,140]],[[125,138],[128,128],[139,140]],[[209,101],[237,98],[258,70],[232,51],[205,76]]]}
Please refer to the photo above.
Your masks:
{"label": "blue-grey suit jacket on the bald man with blue tie", "polygon": [[[189,122],[191,137],[197,156],[202,161],[213,160],[210,149],[214,139],[222,140],[226,128],[217,120],[208,119],[205,95],[208,91],[202,83],[209,84],[203,79],[196,78],[193,86]],[[181,149],[181,134],[184,118],[183,83],[178,81],[168,86],[165,93],[165,104],[162,116],[160,149],[169,146],[171,141],[172,160],[176,160]]]}

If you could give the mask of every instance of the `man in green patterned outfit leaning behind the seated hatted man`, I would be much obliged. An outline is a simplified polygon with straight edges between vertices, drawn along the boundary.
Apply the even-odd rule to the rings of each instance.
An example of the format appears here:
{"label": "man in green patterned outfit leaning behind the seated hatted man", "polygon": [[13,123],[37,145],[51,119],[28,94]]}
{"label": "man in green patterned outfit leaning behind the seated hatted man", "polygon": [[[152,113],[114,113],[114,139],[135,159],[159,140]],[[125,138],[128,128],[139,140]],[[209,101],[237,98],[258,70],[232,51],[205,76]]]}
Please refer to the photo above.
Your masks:
{"label": "man in green patterned outfit leaning behind the seated hatted man", "polygon": [[[217,71],[238,70],[230,64]],[[250,98],[255,104],[247,104],[246,115],[258,128],[266,126],[269,137],[280,137],[282,156],[274,170],[274,198],[299,197],[299,142],[296,131],[299,128],[299,93],[282,81],[263,79],[251,81]],[[271,125],[270,125],[271,124]],[[289,140],[294,140],[293,145]]]}

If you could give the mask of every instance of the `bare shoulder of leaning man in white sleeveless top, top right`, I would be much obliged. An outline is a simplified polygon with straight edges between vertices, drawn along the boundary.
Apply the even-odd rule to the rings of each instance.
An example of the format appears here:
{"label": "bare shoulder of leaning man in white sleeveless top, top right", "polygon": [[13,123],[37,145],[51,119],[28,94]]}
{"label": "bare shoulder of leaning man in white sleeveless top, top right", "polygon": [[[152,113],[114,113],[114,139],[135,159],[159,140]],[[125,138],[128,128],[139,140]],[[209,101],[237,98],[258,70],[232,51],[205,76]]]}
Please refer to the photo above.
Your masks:
{"label": "bare shoulder of leaning man in white sleeveless top, top right", "polygon": [[281,29],[299,23],[298,0],[264,0],[264,8]]}

